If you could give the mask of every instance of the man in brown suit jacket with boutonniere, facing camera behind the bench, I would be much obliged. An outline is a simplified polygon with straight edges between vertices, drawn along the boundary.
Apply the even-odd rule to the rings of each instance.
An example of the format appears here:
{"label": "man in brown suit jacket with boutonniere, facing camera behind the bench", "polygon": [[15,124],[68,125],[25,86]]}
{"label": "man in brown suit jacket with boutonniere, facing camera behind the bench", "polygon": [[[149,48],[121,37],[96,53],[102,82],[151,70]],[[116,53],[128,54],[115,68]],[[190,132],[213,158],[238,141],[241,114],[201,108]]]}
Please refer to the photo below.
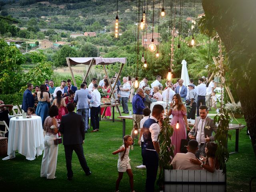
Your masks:
{"label": "man in brown suit jacket with boutonniere, facing camera behind the bench", "polygon": [[200,117],[196,117],[194,127],[190,130],[188,137],[198,142],[198,150],[196,151],[196,157],[199,158],[200,154],[205,156],[205,145],[207,142],[215,140],[215,135],[212,133],[217,131],[214,125],[214,120],[207,116],[209,113],[206,105],[199,107]]}

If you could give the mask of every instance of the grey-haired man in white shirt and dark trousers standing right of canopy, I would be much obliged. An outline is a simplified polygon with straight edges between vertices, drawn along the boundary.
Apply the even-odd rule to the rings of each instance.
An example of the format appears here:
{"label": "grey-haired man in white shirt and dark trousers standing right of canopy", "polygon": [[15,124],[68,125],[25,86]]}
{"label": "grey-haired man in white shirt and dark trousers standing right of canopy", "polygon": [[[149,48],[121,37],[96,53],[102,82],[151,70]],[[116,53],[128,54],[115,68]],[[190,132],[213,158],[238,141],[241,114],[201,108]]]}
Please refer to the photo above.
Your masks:
{"label": "grey-haired man in white shirt and dark trousers standing right of canopy", "polygon": [[131,86],[128,82],[128,79],[127,77],[123,77],[123,86],[121,88],[120,86],[120,90],[121,90],[121,98],[122,98],[122,107],[123,107],[123,113],[126,113],[128,114],[129,113],[129,110],[128,110],[128,98],[130,96],[130,89],[131,89]]}

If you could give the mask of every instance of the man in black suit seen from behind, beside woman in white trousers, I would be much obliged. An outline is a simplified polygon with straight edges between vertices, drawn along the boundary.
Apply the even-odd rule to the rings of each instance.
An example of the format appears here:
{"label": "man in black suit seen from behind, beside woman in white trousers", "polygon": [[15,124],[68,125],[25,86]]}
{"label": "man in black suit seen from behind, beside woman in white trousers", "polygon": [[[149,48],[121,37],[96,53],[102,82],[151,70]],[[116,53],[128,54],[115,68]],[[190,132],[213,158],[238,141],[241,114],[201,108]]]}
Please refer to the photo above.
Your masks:
{"label": "man in black suit seen from behind, beside woman in white trousers", "polygon": [[76,152],[80,165],[84,170],[86,176],[92,174],[87,166],[84,157],[84,121],[82,115],[74,112],[75,106],[73,103],[67,104],[68,114],[62,116],[59,131],[63,134],[63,145],[65,150],[66,167],[68,170],[68,180],[72,180],[72,153]]}

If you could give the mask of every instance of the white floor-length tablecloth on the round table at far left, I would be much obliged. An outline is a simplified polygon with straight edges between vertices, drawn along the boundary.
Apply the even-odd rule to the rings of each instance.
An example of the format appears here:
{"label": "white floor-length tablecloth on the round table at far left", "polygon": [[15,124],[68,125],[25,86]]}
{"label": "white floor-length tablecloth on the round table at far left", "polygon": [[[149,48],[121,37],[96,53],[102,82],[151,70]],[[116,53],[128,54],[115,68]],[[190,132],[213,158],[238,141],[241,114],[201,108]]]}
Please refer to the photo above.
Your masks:
{"label": "white floor-length tablecloth on the round table at far left", "polygon": [[15,151],[24,156],[27,160],[34,160],[35,156],[42,155],[44,150],[44,134],[42,120],[40,116],[32,118],[10,119],[9,138],[8,138],[8,156],[3,160],[15,158]]}

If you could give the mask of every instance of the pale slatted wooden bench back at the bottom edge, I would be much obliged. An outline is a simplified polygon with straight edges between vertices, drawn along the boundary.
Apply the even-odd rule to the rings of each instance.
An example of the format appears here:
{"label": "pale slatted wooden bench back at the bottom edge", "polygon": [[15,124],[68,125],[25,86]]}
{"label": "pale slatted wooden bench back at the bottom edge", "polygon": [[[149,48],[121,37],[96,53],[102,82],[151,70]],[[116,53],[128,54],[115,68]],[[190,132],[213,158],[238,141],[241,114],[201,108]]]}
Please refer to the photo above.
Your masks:
{"label": "pale slatted wooden bench back at the bottom edge", "polygon": [[222,170],[164,170],[165,192],[225,192]]}

